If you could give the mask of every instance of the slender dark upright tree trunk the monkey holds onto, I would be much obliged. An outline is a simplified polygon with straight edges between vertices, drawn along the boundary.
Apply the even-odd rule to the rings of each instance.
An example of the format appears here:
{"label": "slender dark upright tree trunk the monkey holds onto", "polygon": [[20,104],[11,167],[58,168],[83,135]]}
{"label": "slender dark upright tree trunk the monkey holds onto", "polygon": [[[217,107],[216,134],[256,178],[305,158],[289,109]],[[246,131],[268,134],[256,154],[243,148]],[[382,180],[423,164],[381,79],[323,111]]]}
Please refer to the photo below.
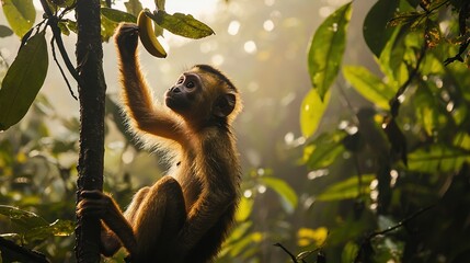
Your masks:
{"label": "slender dark upright tree trunk the monkey holds onto", "polygon": [[[103,72],[100,0],[78,0],[77,65],[80,76],[80,156],[78,192],[103,188],[104,102],[106,83]],[[77,196],[77,202],[80,197]],[[77,262],[100,262],[100,220],[77,218]]]}

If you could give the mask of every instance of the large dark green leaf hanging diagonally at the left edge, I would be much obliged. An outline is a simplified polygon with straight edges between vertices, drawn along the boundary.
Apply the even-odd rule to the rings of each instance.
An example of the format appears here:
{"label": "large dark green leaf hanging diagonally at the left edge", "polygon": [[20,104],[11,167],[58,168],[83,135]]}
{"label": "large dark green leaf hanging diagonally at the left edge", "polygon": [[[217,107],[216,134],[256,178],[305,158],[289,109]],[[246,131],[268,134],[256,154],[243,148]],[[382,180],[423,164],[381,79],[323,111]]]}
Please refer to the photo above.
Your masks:
{"label": "large dark green leaf hanging diagonally at the left edge", "polygon": [[0,130],[20,122],[39,92],[47,73],[45,32],[31,37],[20,49],[0,90]]}

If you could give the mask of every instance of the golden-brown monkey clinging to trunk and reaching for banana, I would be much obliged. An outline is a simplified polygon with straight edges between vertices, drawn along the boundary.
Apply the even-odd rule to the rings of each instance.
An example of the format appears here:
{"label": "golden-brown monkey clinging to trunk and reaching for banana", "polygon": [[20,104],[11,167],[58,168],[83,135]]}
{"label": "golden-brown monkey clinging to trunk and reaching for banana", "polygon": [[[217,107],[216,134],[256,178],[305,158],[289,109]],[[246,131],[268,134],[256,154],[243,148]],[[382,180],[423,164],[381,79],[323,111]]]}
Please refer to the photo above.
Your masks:
{"label": "golden-brown monkey clinging to trunk and reaching for banana", "polygon": [[123,213],[112,196],[81,191],[78,216],[102,221],[100,251],[124,247],[130,262],[214,262],[234,224],[241,167],[232,122],[242,105],[220,70],[196,65],[165,91],[151,94],[140,69],[138,27],[115,33],[124,111],[130,129],[167,150],[169,175],[140,188]]}

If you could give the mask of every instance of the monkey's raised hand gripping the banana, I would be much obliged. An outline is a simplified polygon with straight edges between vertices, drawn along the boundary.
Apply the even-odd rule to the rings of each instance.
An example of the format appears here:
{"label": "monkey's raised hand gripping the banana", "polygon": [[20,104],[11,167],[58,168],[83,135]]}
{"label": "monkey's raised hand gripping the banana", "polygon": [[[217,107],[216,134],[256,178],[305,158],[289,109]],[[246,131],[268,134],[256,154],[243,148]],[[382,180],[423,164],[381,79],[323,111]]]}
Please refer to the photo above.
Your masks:
{"label": "monkey's raised hand gripping the banana", "polygon": [[122,23],[114,34],[114,41],[123,58],[133,58],[136,55],[139,27],[133,23]]}

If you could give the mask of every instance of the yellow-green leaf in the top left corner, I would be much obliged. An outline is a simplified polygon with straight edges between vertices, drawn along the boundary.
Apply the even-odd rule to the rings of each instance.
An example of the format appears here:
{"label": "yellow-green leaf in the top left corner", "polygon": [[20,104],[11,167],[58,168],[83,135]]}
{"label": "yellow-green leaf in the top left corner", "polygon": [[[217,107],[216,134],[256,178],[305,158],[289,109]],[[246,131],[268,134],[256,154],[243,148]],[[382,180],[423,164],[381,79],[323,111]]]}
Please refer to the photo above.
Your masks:
{"label": "yellow-green leaf in the top left corner", "polygon": [[4,16],[14,34],[23,37],[36,20],[36,10],[34,9],[33,1],[2,0],[1,4]]}

